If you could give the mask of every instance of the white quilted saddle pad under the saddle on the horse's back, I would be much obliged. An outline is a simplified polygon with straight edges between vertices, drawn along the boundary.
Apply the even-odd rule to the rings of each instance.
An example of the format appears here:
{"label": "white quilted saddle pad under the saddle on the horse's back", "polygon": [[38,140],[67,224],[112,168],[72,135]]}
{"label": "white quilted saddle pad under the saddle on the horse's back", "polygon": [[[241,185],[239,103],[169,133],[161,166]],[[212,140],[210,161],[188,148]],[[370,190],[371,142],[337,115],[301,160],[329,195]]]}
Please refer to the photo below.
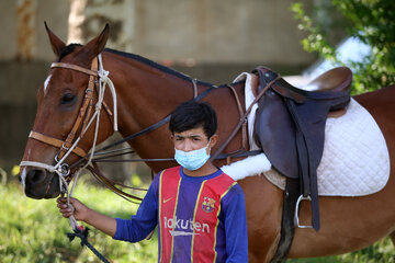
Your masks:
{"label": "white quilted saddle pad under the saddle on the horse's back", "polygon": [[[222,169],[235,180],[263,173],[271,183],[284,190],[285,178],[270,168],[262,153]],[[388,178],[390,155],[384,136],[370,113],[351,99],[343,116],[327,119],[323,159],[317,169],[318,194],[369,195],[382,190]]]}

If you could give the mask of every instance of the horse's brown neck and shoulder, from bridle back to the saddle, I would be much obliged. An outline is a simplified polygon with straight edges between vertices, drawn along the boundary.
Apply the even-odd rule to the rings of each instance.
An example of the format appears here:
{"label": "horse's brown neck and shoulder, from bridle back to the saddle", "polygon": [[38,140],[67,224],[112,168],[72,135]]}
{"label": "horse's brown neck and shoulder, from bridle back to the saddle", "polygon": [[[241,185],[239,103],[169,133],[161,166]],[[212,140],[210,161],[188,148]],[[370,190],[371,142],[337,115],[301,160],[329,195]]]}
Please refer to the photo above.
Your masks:
{"label": "horse's brown neck and shoulder, from bridle back to the saddle", "polygon": [[[135,134],[172,113],[181,102],[193,98],[193,84],[188,78],[160,70],[148,64],[106,54],[109,68],[119,99],[119,129],[123,137]],[[105,65],[104,65],[105,66]],[[199,93],[207,87],[199,85]],[[244,84],[235,85],[244,107]],[[215,93],[215,95],[214,95]],[[218,100],[221,98],[221,100]],[[205,99],[217,112],[218,144],[216,150],[237,125],[240,112],[234,93],[226,88],[216,89]],[[169,158],[173,155],[168,125],[155,129],[129,142],[142,158]],[[225,149],[233,152],[241,148],[241,133]],[[148,163],[154,171],[174,163]]]}

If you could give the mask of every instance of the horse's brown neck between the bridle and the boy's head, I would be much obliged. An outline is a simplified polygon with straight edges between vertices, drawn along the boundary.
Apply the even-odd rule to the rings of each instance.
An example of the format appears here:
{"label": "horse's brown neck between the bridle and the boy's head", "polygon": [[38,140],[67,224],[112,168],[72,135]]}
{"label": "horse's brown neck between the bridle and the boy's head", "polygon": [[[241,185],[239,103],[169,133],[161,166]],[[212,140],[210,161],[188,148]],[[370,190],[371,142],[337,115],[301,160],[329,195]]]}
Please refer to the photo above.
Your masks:
{"label": "horse's brown neck between the bridle and the boy's head", "polygon": [[[119,129],[123,137],[159,122],[192,98],[192,82],[142,61],[114,55],[106,64],[117,93]],[[142,158],[169,158],[173,151],[167,124],[129,145]],[[158,170],[156,165],[151,168]]]}

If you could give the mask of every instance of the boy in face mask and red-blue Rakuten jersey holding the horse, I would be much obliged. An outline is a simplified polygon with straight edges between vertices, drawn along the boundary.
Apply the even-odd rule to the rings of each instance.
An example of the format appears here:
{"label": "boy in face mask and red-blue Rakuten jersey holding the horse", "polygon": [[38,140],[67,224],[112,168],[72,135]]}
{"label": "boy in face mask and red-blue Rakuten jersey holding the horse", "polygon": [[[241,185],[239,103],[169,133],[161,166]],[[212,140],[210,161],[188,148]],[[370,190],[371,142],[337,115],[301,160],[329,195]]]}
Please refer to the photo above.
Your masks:
{"label": "boy in face mask and red-blue Rakuten jersey holding the horse", "polygon": [[[155,176],[137,214],[110,218],[72,198],[74,215],[116,240],[137,242],[158,225],[159,262],[248,262],[241,187],[208,159],[217,142],[217,119],[206,103],[188,101],[169,128],[180,167]],[[58,199],[64,217],[71,209]]]}

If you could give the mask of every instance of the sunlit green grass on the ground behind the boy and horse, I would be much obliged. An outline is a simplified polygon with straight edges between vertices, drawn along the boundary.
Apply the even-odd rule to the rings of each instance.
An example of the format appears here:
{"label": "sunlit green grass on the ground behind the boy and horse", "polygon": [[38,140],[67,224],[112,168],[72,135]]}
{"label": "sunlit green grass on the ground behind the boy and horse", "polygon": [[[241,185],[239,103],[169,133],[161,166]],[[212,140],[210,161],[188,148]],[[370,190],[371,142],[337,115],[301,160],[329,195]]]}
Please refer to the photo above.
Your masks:
{"label": "sunlit green grass on the ground behind the boy and horse", "polygon": [[[80,181],[75,191],[84,204],[111,217],[128,218],[137,206],[120,198],[109,190],[94,187]],[[60,263],[100,262],[79,239],[69,242],[69,221],[60,216],[55,199],[27,198],[16,183],[0,183],[0,262],[1,263]],[[115,241],[111,237],[91,229],[89,241],[100,253],[114,263],[157,262],[158,239],[138,243]],[[287,260],[287,263],[395,263],[395,250],[390,239],[338,256]]]}

